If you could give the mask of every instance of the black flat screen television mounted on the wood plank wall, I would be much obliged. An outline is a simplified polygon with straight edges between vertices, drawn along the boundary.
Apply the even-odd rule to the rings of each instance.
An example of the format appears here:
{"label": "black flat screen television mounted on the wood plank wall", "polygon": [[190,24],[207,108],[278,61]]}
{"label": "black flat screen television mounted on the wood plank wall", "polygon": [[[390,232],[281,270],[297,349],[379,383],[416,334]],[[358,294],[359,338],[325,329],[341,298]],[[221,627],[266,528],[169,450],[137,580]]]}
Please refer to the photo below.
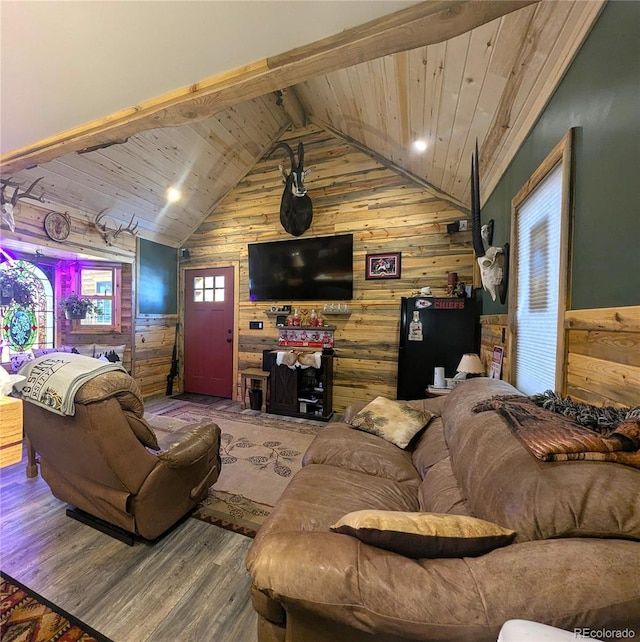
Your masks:
{"label": "black flat screen television mounted on the wood plank wall", "polygon": [[249,244],[251,301],[353,298],[353,234]]}

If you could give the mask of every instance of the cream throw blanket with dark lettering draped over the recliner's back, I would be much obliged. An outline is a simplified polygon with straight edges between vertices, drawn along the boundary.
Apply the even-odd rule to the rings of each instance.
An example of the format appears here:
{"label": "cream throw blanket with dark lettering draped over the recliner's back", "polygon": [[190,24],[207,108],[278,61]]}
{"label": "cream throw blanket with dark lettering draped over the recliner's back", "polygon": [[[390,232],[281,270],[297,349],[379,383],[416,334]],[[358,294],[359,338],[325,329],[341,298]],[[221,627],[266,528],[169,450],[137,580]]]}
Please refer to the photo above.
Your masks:
{"label": "cream throw blanket with dark lettering draped over the recliner's back", "polygon": [[59,415],[73,415],[78,388],[110,370],[126,372],[120,363],[106,363],[71,352],[55,352],[27,361],[19,371],[26,379],[14,387],[26,401]]}

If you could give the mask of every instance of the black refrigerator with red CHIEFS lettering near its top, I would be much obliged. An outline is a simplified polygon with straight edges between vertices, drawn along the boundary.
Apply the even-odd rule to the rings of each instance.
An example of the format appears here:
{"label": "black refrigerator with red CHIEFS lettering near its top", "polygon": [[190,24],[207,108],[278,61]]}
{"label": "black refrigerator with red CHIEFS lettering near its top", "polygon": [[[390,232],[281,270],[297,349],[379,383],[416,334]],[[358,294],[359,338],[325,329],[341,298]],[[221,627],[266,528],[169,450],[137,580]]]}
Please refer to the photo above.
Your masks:
{"label": "black refrigerator with red CHIEFS lettering near its top", "polygon": [[465,352],[478,353],[475,299],[402,298],[398,354],[398,399],[424,399],[433,370],[453,377]]}

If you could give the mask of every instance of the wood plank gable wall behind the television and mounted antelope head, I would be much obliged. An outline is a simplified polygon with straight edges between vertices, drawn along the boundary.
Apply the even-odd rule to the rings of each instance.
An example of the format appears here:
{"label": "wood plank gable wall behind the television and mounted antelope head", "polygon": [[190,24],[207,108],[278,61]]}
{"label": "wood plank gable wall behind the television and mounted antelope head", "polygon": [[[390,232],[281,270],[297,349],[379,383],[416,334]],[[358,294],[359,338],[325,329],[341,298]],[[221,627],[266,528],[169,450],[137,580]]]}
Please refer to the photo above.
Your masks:
{"label": "wood plank gable wall behind the television and mounted antelope head", "polygon": [[[471,234],[448,234],[446,229],[447,223],[468,214],[319,127],[295,130],[281,140],[293,149],[303,141],[305,165],[314,168],[306,181],[313,223],[304,236],[354,235],[352,313],[330,321],[337,326],[334,408],[340,411],[355,399],[377,395],[395,398],[400,298],[425,285],[444,295],[448,272],[471,283]],[[249,301],[247,244],[292,238],[279,220],[283,185],[277,165],[282,154],[258,162],[185,243],[191,258],[182,267],[239,261],[240,369],[260,365],[262,350],[277,347],[274,320],[265,315],[272,302]],[[398,251],[401,279],[365,279],[367,253]],[[324,301],[277,303],[304,313],[320,311]],[[264,330],[249,330],[252,320],[264,321]]]}

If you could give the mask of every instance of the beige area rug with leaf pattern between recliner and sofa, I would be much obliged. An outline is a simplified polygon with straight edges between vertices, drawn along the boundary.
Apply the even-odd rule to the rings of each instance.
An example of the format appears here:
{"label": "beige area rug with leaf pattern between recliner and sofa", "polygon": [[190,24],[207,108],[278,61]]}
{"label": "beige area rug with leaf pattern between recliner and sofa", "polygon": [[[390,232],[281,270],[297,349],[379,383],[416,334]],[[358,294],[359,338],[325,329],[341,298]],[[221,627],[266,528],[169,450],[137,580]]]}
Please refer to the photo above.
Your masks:
{"label": "beige area rug with leaf pattern between recliner and sofa", "polygon": [[268,415],[242,415],[171,399],[151,404],[147,421],[158,432],[213,421],[222,432],[222,471],[192,517],[253,537],[264,523],[322,425]]}

